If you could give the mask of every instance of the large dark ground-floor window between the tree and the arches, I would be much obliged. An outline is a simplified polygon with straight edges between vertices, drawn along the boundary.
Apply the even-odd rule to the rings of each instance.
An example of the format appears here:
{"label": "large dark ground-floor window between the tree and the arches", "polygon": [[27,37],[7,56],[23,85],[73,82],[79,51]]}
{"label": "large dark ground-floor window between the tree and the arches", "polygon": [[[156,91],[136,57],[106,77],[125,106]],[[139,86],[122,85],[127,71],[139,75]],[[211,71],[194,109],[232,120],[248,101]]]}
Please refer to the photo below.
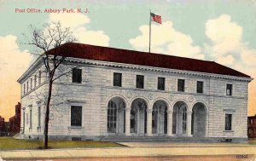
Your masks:
{"label": "large dark ground-floor window between the tree and the arches", "polygon": [[82,126],[82,106],[71,106],[71,126]]}

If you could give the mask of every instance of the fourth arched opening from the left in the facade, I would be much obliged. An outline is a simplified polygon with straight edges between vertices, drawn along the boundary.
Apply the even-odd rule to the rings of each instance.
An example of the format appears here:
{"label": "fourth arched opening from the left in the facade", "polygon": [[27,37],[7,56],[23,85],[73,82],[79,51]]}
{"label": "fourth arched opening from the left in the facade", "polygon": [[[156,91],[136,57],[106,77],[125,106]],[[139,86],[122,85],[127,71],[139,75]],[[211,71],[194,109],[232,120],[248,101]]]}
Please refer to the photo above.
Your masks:
{"label": "fourth arched opening from the left in the facade", "polygon": [[186,135],[188,106],[183,101],[177,101],[173,106],[172,134]]}

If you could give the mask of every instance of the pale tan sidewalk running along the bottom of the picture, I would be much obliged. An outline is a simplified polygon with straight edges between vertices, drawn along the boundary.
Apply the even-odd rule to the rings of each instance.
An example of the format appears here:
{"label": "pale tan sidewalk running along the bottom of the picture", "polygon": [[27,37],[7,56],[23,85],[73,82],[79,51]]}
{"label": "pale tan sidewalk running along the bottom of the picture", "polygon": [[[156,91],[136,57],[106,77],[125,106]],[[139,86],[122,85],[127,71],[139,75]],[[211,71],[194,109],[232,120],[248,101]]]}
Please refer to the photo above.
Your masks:
{"label": "pale tan sidewalk running along the bottom of the picture", "polygon": [[96,158],[256,154],[255,146],[234,147],[106,147],[83,149],[1,151],[10,158]]}

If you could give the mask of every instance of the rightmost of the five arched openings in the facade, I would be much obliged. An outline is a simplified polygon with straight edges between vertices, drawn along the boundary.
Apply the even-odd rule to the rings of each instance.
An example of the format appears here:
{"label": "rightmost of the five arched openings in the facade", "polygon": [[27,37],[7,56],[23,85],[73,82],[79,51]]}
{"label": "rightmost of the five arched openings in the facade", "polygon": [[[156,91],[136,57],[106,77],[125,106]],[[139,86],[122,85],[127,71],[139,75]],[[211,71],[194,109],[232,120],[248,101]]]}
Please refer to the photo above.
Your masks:
{"label": "rightmost of the five arched openings in the facade", "polygon": [[195,103],[192,109],[191,132],[195,137],[206,135],[207,108],[201,102]]}

